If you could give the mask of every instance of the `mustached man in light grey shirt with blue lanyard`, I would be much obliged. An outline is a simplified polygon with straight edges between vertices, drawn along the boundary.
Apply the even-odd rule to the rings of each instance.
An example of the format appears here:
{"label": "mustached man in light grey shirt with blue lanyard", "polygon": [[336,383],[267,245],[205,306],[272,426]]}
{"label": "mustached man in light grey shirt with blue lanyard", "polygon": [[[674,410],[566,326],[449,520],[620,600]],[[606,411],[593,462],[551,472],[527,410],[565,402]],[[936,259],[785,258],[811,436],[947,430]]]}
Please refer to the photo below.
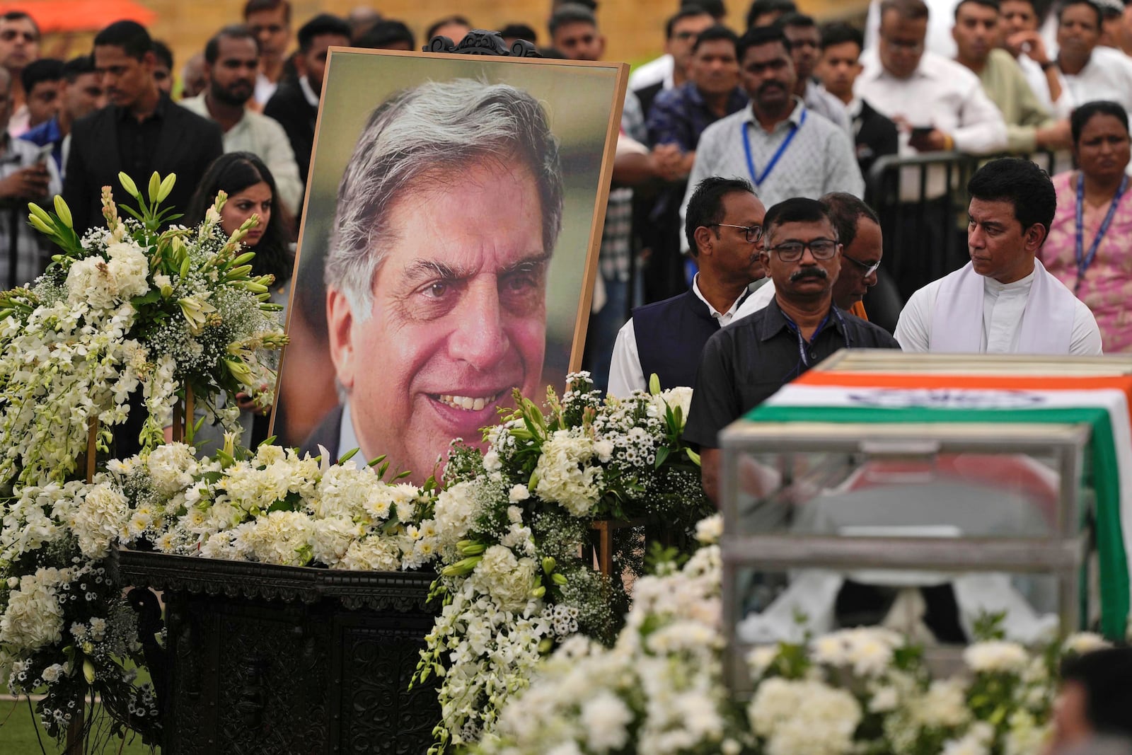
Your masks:
{"label": "mustached man in light grey shirt with blue lanyard", "polygon": [[715,121],[700,137],[680,216],[692,189],[709,175],[752,181],[764,205],[830,191],[863,196],[865,181],[848,132],[794,95],[797,75],[782,31],[748,31],[739,37],[738,58],[751,106]]}

